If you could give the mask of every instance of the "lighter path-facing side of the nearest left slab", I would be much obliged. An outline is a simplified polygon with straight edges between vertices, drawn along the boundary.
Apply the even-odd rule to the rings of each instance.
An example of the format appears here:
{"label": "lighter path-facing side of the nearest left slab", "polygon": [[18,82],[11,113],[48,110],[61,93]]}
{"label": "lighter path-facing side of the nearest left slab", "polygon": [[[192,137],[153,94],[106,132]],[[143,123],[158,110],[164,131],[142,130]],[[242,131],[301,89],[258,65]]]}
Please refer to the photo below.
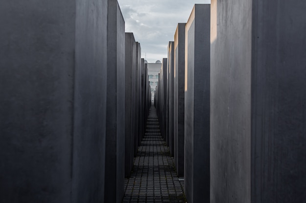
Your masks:
{"label": "lighter path-facing side of the nearest left slab", "polygon": [[108,2],[77,2],[71,202],[96,203],[104,198]]}

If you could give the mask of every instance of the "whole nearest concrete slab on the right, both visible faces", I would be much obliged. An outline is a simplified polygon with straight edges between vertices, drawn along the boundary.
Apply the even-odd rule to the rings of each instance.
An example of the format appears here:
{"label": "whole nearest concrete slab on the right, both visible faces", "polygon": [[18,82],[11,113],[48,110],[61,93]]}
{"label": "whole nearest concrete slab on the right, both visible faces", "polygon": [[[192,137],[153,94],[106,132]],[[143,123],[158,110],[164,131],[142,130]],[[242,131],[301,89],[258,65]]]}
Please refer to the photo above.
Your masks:
{"label": "whole nearest concrete slab on the right, both visible faces", "polygon": [[305,9],[212,0],[211,203],[306,200]]}

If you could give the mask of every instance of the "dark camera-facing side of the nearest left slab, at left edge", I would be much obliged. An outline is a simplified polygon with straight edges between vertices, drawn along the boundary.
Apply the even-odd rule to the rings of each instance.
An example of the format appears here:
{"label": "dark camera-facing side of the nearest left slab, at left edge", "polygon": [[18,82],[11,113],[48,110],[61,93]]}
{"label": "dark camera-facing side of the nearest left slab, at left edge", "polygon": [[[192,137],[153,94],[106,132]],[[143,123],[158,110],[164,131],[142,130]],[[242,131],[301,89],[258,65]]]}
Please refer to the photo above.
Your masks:
{"label": "dark camera-facing side of the nearest left slab, at left edge", "polygon": [[3,203],[71,197],[76,3],[34,2],[0,7]]}

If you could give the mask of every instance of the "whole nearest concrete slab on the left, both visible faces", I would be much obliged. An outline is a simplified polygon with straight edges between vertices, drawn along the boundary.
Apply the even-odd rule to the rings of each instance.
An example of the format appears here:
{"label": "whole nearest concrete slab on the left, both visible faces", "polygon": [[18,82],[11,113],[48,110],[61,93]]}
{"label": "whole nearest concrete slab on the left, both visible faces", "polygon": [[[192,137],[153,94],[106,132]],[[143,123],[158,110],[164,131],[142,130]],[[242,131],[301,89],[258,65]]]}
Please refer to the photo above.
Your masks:
{"label": "whole nearest concrete slab on the left, both visible faces", "polygon": [[103,202],[107,5],[1,2],[1,203]]}

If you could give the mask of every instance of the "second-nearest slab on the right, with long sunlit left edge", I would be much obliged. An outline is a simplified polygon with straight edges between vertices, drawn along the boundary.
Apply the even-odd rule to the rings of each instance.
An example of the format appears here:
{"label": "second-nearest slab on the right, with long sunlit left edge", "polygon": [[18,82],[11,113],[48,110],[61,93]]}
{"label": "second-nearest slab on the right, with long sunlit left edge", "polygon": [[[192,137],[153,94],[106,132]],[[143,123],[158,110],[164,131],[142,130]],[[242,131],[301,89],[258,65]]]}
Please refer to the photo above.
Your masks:
{"label": "second-nearest slab on the right, with long sunlit left edge", "polygon": [[209,202],[210,4],[196,4],[185,30],[184,189],[188,203]]}

